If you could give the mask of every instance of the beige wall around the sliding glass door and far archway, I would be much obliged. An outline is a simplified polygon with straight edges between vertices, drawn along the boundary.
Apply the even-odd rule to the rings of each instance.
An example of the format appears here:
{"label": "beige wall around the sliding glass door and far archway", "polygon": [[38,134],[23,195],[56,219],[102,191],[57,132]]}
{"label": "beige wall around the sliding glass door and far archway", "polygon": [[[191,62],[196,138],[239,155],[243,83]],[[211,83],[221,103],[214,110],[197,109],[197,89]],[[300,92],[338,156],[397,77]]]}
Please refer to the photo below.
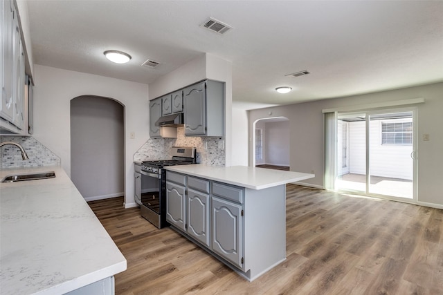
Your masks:
{"label": "beige wall around the sliding glass door and far archway", "polygon": [[[359,106],[375,102],[394,102],[402,99],[423,97],[424,104],[417,104],[418,115],[418,202],[432,204],[443,208],[443,182],[441,167],[443,166],[443,83],[401,88],[392,91],[354,95],[336,99],[325,99],[305,104],[275,106],[249,111],[249,132],[253,132],[253,122],[260,118],[274,116],[289,118],[291,142],[291,171],[310,173],[315,178],[305,180],[306,183],[323,187],[324,172],[324,135],[323,113],[325,108]],[[422,135],[428,134],[429,141],[423,141]],[[253,146],[249,146],[251,151]],[[252,163],[251,153],[249,163]]]}

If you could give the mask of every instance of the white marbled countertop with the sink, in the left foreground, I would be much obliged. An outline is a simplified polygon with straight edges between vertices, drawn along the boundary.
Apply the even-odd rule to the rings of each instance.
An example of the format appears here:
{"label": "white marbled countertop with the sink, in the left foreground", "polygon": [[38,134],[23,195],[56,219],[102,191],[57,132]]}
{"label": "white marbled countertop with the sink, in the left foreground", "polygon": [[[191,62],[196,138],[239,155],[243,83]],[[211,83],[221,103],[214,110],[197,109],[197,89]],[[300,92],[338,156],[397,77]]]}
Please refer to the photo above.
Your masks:
{"label": "white marbled countertop with the sink, in the left foreground", "polygon": [[0,183],[0,294],[64,294],[126,269],[126,259],[59,166],[55,178]]}

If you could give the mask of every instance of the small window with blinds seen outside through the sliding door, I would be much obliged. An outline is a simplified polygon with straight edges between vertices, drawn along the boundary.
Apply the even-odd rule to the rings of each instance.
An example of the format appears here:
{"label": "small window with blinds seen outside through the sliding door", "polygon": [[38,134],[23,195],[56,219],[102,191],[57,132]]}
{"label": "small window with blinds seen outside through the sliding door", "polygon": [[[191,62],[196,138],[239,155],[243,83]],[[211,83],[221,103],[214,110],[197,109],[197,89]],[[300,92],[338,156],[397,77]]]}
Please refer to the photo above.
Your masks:
{"label": "small window with blinds seen outside through the sliding door", "polygon": [[381,123],[381,144],[413,144],[413,122]]}

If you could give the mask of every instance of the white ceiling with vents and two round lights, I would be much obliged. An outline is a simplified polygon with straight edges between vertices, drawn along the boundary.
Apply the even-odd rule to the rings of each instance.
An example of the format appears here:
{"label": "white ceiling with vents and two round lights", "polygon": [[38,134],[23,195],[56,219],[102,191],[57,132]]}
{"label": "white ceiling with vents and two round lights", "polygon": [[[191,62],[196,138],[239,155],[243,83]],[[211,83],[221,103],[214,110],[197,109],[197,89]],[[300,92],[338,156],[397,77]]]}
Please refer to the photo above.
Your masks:
{"label": "white ceiling with vents and two round lights", "polygon": [[[232,61],[244,108],[443,81],[443,1],[35,0],[28,13],[35,64],[150,84],[210,53]],[[234,29],[205,30],[208,17]],[[132,60],[113,64],[109,49]]]}

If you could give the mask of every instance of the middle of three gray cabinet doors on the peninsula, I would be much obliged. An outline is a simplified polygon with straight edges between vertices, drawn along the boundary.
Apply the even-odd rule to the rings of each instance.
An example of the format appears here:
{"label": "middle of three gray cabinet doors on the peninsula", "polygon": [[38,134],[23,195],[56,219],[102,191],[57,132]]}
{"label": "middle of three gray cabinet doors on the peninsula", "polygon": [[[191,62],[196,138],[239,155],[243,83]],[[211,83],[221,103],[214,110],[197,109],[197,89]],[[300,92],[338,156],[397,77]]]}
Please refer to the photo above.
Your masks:
{"label": "middle of three gray cabinet doors on the peninsula", "polygon": [[209,195],[188,189],[188,234],[209,247]]}

